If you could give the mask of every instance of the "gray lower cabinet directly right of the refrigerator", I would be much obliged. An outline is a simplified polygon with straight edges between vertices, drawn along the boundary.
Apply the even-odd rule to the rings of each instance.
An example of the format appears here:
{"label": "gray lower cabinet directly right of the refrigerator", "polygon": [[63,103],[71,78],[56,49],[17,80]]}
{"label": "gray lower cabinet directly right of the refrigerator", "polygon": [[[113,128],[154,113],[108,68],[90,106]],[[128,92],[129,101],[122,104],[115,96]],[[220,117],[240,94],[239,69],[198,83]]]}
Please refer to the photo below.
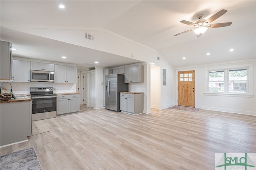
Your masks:
{"label": "gray lower cabinet directly right of the refrigerator", "polygon": [[143,93],[120,93],[120,110],[122,112],[138,115],[143,113]]}

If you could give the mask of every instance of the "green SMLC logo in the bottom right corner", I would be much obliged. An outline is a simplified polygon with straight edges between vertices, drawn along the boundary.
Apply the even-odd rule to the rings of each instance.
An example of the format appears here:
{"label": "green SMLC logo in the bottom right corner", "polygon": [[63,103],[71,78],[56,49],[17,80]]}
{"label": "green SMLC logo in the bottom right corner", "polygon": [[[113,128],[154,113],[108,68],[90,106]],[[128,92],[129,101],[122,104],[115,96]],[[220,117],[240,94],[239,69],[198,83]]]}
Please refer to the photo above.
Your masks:
{"label": "green SMLC logo in the bottom right corner", "polygon": [[245,168],[245,170],[247,170],[247,167],[255,168],[255,165],[247,153],[228,153],[228,156],[227,153],[224,153],[215,169],[217,170],[219,167],[224,167],[224,170],[226,170],[227,167],[228,169],[240,169],[242,168],[241,166],[243,169]]}

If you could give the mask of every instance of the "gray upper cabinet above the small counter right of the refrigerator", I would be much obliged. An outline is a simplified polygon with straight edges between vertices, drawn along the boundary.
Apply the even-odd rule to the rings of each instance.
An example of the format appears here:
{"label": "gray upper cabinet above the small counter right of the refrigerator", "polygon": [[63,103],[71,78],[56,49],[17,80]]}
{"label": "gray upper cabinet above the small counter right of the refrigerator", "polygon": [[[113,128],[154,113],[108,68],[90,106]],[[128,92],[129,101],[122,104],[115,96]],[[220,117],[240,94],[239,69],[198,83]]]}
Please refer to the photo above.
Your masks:
{"label": "gray upper cabinet above the small counter right of the refrigerator", "polygon": [[124,67],[124,83],[142,83],[143,65]]}

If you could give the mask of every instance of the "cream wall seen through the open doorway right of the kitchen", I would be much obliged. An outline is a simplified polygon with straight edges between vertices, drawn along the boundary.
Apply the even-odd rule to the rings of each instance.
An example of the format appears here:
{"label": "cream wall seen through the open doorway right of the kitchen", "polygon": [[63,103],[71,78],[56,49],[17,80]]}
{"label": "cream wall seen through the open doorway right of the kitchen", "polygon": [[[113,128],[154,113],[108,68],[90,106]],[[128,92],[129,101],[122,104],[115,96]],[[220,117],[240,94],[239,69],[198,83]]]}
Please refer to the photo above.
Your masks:
{"label": "cream wall seen through the open doorway right of the kitchen", "polygon": [[160,85],[161,85],[161,67],[150,65],[150,107],[160,109]]}

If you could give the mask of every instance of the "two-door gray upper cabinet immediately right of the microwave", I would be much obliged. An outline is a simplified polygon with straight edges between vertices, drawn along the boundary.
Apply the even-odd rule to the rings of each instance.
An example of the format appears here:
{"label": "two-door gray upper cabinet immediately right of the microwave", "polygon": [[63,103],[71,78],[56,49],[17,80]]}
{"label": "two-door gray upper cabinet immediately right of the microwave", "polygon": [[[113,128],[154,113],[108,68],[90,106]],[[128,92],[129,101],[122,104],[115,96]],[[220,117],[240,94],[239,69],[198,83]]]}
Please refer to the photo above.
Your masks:
{"label": "two-door gray upper cabinet immediately right of the microwave", "polygon": [[76,67],[56,64],[54,83],[76,83]]}

